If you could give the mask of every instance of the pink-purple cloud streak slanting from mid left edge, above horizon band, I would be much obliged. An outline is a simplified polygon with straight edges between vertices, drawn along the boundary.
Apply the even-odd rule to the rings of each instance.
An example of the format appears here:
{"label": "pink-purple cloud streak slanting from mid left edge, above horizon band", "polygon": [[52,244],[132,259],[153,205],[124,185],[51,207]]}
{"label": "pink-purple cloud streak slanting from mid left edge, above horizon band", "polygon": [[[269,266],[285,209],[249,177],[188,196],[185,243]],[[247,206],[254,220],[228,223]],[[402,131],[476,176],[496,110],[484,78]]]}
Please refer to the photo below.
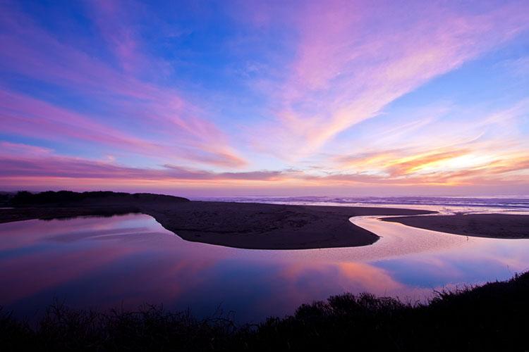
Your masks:
{"label": "pink-purple cloud streak slanting from mid left edge, above horizon band", "polygon": [[[186,159],[219,166],[240,166],[245,163],[229,148],[223,149],[219,146],[215,149],[214,141],[203,148],[200,148],[200,144],[186,146],[152,142],[103,125],[85,115],[1,89],[0,121],[4,132],[26,137],[75,143],[84,141],[129,153],[140,153],[143,156],[164,156],[169,160]],[[197,125],[202,127],[200,123]],[[207,124],[202,127],[205,133],[207,128]]]}

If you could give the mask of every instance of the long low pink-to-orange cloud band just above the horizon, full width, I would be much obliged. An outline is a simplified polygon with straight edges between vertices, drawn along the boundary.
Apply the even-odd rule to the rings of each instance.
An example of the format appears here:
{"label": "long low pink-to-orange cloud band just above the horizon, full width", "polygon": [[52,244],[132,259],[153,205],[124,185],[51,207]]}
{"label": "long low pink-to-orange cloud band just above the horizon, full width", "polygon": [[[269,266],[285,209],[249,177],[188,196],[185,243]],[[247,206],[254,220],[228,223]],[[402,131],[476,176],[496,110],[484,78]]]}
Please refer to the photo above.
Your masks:
{"label": "long low pink-to-orange cloud band just above the horizon, full width", "polygon": [[[311,185],[325,187],[329,184],[524,184],[523,172],[529,170],[529,160],[523,152],[511,156],[497,155],[475,165],[465,163],[465,168],[443,166],[442,170],[428,171],[438,163],[454,163],[458,158],[473,158],[470,149],[431,151],[416,156],[401,156],[399,151],[382,153],[381,158],[389,175],[367,174],[362,172],[329,172],[327,175],[312,175],[297,170],[257,170],[248,172],[212,172],[183,168],[176,165],[163,165],[159,168],[132,168],[108,161],[94,161],[83,158],[56,156],[47,149],[39,149],[23,144],[2,142],[8,149],[0,153],[0,183],[4,187],[26,184],[68,184],[66,180],[76,180],[78,184],[145,184],[154,182],[158,186],[171,183],[183,184],[226,184],[229,182],[267,182],[281,184],[293,181],[296,186]],[[11,151],[9,151],[11,149]],[[343,158],[347,163],[366,163],[369,158],[377,158],[376,153]],[[518,175],[519,172],[522,172]],[[90,181],[92,180],[92,181]]]}

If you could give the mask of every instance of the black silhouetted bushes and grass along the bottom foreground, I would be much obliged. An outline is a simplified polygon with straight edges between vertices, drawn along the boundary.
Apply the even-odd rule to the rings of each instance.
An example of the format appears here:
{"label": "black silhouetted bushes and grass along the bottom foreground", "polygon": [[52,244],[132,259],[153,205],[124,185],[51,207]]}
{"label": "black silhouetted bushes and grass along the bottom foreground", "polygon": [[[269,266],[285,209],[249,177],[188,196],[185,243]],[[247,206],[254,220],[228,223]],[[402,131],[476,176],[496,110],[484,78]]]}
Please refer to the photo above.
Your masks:
{"label": "black silhouetted bushes and grass along the bottom foreground", "polygon": [[236,326],[157,306],[108,313],[50,306],[31,327],[0,317],[4,351],[528,351],[529,273],[437,292],[428,303],[343,294],[287,318]]}

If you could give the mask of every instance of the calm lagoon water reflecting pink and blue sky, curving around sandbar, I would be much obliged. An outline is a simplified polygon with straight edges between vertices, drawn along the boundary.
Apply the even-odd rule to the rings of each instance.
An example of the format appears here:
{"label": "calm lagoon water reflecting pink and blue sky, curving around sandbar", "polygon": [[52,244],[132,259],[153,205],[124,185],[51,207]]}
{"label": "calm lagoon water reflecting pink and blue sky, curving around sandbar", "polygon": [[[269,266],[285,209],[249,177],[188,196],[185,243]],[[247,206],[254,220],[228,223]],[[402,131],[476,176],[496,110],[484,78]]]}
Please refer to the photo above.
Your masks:
{"label": "calm lagoon water reflecting pink and blue sky, curving around sandbar", "polygon": [[28,318],[53,298],[74,307],[163,303],[239,322],[285,315],[343,291],[424,300],[433,289],[529,269],[529,240],[480,239],[351,219],[372,246],[264,251],[183,241],[148,215],[0,224],[0,305]]}

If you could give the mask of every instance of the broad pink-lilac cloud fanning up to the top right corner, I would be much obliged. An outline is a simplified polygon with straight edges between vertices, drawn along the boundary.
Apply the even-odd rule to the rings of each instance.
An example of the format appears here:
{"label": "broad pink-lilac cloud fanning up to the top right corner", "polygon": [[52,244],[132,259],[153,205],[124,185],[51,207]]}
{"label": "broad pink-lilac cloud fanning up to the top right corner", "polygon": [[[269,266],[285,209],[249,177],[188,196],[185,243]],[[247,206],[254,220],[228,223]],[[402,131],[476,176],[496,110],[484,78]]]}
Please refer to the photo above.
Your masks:
{"label": "broad pink-lilac cloud fanning up to the top right corner", "polygon": [[279,126],[267,130],[277,137],[260,142],[261,149],[297,157],[317,151],[404,94],[528,30],[521,7],[463,13],[446,3],[307,3],[296,14],[291,75],[269,92]]}

